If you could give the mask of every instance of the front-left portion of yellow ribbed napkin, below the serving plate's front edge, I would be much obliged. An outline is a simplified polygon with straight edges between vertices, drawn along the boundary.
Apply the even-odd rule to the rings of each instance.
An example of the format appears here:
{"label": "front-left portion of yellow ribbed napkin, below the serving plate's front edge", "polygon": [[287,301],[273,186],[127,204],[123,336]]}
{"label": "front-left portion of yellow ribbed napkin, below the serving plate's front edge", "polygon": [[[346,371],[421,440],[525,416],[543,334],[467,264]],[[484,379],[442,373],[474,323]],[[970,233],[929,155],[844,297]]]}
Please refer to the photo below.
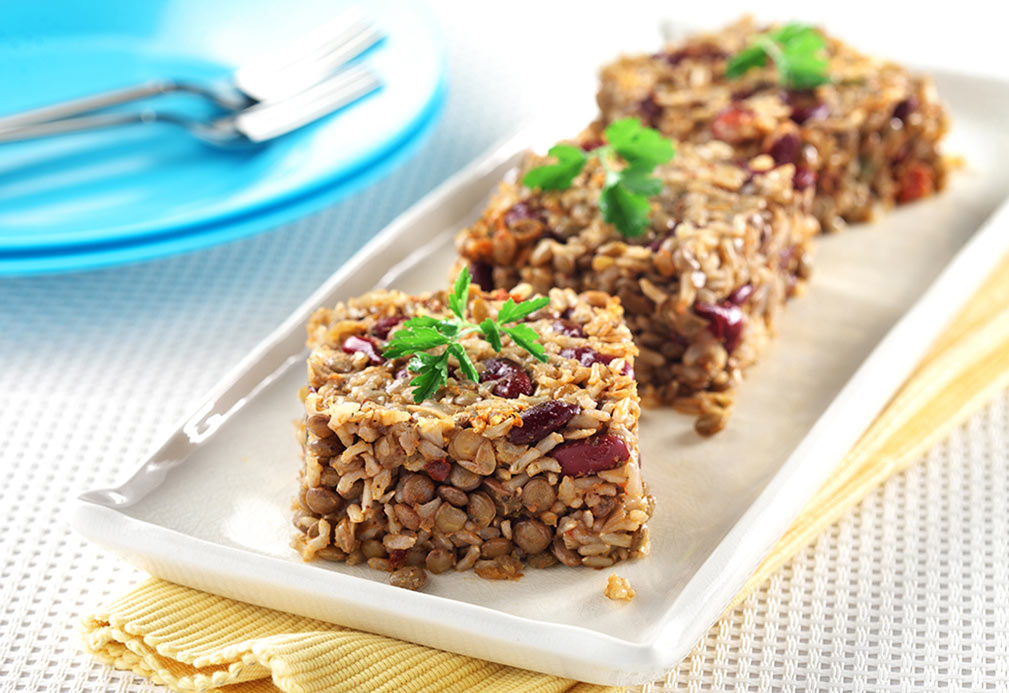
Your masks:
{"label": "front-left portion of yellow ribbed napkin, below the serving plate's front edge", "polygon": [[150,579],[84,621],[85,647],[175,691],[609,691]]}

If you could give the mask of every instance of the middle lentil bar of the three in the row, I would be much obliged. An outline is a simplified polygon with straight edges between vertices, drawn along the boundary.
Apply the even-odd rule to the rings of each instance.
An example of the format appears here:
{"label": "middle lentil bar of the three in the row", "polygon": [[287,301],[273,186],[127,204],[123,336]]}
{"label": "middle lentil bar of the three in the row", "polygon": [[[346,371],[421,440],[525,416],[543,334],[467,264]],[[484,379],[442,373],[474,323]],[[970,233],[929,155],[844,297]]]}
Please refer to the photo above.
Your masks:
{"label": "middle lentil bar of the three in the row", "polygon": [[[579,142],[590,149],[600,137],[590,127]],[[811,191],[793,190],[791,164],[776,167],[767,155],[741,164],[736,156],[724,142],[679,146],[656,169],[663,192],[637,238],[602,220],[605,171],[594,157],[565,191],[507,181],[457,237],[460,263],[484,287],[528,282],[541,293],[618,297],[640,349],[643,401],[671,403],[697,417],[699,433],[715,433],[733,387],[808,274],[818,231]],[[516,181],[545,161],[528,155]]]}

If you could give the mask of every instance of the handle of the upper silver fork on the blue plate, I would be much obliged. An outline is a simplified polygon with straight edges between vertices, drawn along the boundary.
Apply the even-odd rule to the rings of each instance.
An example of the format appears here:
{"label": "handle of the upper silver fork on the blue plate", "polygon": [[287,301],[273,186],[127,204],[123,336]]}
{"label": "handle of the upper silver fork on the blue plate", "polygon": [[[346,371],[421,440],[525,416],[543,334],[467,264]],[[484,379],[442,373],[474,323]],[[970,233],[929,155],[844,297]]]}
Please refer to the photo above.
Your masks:
{"label": "handle of the upper silver fork on the blue plate", "polygon": [[44,106],[23,113],[16,113],[11,116],[0,118],[0,131],[8,128],[47,123],[61,118],[80,116],[93,111],[98,111],[110,106],[147,99],[152,96],[170,94],[172,92],[188,92],[198,94],[203,98],[215,103],[217,106],[229,111],[236,111],[251,104],[237,91],[233,94],[226,93],[226,90],[214,90],[201,87],[188,82],[177,82],[175,80],[157,80],[136,87],[126,89],[116,89],[111,92],[104,92],[94,96],[86,96],[81,99],[65,101],[52,106]]}

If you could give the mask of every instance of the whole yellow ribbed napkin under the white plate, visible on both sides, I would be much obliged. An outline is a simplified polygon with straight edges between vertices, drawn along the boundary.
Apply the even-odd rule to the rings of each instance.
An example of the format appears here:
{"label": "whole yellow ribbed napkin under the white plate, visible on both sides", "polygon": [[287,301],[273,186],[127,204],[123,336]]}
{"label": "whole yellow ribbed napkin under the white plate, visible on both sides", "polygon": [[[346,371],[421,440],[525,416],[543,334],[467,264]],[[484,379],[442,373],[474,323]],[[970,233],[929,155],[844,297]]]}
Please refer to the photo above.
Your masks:
{"label": "whole yellow ribbed napkin under the white plate, visible on both sides", "polygon": [[[1004,261],[740,591],[1009,384]],[[732,608],[732,606],[730,608]],[[606,691],[148,580],[84,620],[95,657],[176,691]]]}

